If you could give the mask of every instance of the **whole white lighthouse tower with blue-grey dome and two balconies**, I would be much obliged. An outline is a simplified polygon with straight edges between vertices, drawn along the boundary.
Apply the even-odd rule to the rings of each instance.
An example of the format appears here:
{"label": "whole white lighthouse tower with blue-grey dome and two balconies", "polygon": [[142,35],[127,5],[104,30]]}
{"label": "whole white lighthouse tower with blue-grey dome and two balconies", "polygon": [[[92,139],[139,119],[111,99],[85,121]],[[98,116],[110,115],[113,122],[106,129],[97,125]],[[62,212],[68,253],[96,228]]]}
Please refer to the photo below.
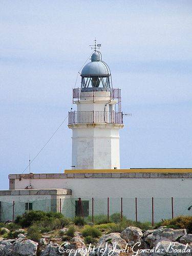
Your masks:
{"label": "whole white lighthouse tower with blue-grey dome and two balconies", "polygon": [[123,125],[121,90],[112,87],[109,66],[97,50],[81,71],[81,88],[73,89],[77,111],[69,112],[73,169],[119,169],[119,129]]}

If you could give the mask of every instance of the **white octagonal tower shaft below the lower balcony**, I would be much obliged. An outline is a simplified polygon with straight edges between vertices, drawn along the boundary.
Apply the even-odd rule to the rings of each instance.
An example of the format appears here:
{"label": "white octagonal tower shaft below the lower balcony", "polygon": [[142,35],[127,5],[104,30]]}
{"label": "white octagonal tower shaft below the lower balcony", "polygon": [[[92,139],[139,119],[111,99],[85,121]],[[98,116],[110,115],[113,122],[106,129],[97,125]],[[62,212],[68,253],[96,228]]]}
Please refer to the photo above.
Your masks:
{"label": "white octagonal tower shaft below the lower balcony", "polygon": [[118,126],[76,125],[72,130],[72,166],[75,169],[120,168]]}

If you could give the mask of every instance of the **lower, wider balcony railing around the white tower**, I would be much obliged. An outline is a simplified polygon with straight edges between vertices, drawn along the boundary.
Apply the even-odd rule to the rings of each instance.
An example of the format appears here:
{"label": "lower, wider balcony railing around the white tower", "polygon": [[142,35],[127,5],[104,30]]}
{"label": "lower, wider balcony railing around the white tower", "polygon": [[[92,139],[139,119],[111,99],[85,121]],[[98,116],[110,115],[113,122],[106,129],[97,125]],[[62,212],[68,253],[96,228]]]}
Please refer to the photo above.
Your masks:
{"label": "lower, wider balcony railing around the white tower", "polygon": [[116,123],[123,124],[122,112],[74,111],[69,112],[69,124],[75,123]]}

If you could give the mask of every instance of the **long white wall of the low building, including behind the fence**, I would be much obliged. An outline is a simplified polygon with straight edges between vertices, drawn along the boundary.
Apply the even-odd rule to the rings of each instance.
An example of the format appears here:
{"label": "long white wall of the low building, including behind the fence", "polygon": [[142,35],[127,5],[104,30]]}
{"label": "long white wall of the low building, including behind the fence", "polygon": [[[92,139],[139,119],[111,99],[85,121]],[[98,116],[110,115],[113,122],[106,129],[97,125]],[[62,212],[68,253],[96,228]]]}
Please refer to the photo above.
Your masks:
{"label": "long white wall of the low building, including behind the fence", "polygon": [[[29,180],[15,180],[15,189],[23,189]],[[77,198],[90,202],[94,198],[95,215],[107,212],[107,198],[110,198],[110,215],[120,212],[123,198],[123,215],[135,220],[135,198],[137,197],[138,220],[152,220],[152,197],[154,197],[155,222],[172,217],[171,197],[174,197],[174,216],[192,215],[187,208],[192,205],[191,179],[167,178],[71,178],[71,179],[31,179],[33,188],[70,188],[72,198],[63,199],[62,212],[74,217],[74,203]],[[26,196],[27,199],[27,196]],[[26,200],[25,199],[25,200]],[[24,200],[24,201],[25,201]]]}

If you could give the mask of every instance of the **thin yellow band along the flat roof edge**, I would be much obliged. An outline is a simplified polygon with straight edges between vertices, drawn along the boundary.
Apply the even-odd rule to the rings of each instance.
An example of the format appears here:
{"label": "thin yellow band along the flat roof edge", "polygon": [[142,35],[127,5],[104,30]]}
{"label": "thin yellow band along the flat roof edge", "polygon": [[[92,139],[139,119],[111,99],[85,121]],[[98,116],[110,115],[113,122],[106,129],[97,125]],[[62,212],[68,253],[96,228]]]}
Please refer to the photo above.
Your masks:
{"label": "thin yellow band along the flat roof edge", "polygon": [[192,168],[67,169],[65,174],[98,173],[192,173]]}

